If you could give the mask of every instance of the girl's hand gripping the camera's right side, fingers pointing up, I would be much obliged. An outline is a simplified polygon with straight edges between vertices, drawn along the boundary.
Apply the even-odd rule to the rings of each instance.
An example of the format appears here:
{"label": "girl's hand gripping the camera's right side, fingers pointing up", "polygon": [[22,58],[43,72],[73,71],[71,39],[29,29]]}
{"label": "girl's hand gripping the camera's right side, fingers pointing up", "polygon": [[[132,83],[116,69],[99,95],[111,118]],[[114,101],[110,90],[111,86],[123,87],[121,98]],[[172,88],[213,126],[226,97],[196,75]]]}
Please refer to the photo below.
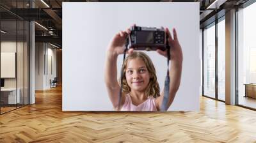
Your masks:
{"label": "girl's hand gripping the camera's right side, fingers pointing up", "polygon": [[[168,42],[170,45],[170,56],[171,56],[171,61],[177,61],[177,62],[182,62],[183,57],[182,57],[182,49],[180,47],[180,43],[177,38],[177,33],[176,30],[173,28],[173,38],[172,35],[170,34],[170,31],[168,28],[165,29],[166,34],[168,34]],[[157,49],[158,54],[167,57],[167,50],[159,50]]]}

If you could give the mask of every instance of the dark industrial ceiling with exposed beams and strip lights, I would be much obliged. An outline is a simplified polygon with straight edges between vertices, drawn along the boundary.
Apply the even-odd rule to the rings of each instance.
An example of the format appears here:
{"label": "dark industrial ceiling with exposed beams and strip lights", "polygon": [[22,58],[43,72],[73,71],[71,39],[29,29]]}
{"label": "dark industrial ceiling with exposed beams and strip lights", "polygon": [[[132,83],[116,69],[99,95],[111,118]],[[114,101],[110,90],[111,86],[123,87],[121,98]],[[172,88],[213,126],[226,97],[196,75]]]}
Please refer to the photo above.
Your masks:
{"label": "dark industrial ceiling with exposed beams and strip lights", "polygon": [[[16,29],[15,21],[18,20],[35,20],[36,41],[51,42],[61,47],[62,36],[62,2],[96,2],[97,0],[1,0],[0,1],[0,19],[1,27],[5,31],[16,34],[23,31],[24,26],[18,24]],[[98,0],[99,2],[107,2],[106,0]],[[115,0],[112,0],[112,2]],[[136,1],[136,0],[130,0]],[[137,0],[138,1],[138,0]],[[161,0],[167,2],[168,0]],[[216,13],[225,15],[225,10],[239,6],[248,0],[171,0],[172,2],[199,2],[200,3],[200,27],[212,22],[211,17]],[[30,4],[29,4],[30,2]],[[109,1],[108,1],[109,2]],[[115,1],[117,2],[117,1]],[[149,2],[158,2],[152,0]],[[33,8],[32,8],[33,7]],[[221,14],[219,15],[221,17]],[[40,26],[41,25],[41,26]],[[43,27],[42,27],[43,26]],[[3,28],[2,28],[3,29]],[[27,31],[27,28],[25,27]],[[19,37],[19,36],[18,36]]]}

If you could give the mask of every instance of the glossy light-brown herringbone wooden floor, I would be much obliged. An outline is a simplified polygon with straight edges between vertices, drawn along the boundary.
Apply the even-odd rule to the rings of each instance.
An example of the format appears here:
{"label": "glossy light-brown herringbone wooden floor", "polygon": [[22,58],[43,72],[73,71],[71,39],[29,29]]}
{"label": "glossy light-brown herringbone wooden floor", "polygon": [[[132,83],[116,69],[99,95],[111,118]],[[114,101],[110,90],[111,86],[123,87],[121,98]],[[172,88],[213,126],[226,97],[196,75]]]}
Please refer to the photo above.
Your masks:
{"label": "glossy light-brown herringbone wooden floor", "polygon": [[0,142],[256,142],[256,112],[200,98],[200,112],[62,112],[61,88],[0,116]]}

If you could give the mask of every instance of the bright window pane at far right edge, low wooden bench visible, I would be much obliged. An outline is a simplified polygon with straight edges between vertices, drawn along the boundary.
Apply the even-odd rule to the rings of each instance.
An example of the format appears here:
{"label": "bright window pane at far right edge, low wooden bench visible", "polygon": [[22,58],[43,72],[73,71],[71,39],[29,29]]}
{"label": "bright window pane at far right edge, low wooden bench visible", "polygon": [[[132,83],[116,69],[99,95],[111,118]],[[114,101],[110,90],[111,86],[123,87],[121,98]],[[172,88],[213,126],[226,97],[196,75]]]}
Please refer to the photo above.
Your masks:
{"label": "bright window pane at far right edge, low wooden bench visible", "polygon": [[237,11],[238,104],[256,109],[256,3]]}

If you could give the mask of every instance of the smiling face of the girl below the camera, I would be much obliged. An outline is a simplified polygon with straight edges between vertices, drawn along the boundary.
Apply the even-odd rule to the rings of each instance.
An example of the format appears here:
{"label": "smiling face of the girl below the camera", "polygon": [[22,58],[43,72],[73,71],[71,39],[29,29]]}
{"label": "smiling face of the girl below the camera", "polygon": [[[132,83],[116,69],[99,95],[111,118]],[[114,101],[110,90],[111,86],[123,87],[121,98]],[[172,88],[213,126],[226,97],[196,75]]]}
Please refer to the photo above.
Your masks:
{"label": "smiling face of the girl below the camera", "polygon": [[145,91],[150,80],[146,64],[138,57],[127,61],[125,77],[128,86],[135,91]]}

